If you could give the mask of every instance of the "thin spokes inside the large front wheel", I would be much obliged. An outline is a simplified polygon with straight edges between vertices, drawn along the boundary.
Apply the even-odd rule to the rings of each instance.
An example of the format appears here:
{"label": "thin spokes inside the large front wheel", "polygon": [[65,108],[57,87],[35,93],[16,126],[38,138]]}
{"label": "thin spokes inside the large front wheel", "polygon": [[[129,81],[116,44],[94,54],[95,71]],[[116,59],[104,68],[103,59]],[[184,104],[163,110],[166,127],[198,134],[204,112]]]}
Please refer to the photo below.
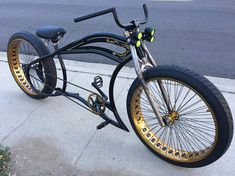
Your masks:
{"label": "thin spokes inside the large front wheel", "polygon": [[[158,80],[148,83],[154,93],[153,98],[158,104],[161,117],[175,119],[166,127],[160,126],[144,91],[141,90],[138,111],[141,111],[140,124],[144,123],[148,129],[146,135],[149,136],[148,133],[151,133],[148,140],[156,140],[158,150],[171,157],[202,155],[215,141],[215,123],[209,108],[196,92],[185,85],[168,79],[161,80],[161,84],[169,96],[169,101],[173,103],[171,112],[167,109]],[[173,112],[178,113],[178,117],[172,115]]]}

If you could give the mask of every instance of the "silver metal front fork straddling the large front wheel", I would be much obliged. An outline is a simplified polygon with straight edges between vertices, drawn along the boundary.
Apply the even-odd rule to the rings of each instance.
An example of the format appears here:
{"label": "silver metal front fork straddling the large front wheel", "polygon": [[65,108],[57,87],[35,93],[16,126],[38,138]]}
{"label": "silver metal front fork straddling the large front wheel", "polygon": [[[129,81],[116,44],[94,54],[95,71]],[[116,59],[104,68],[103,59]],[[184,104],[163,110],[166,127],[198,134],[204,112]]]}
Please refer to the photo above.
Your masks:
{"label": "silver metal front fork straddling the large front wheel", "polygon": [[[154,96],[154,93],[151,91],[151,89],[149,88],[148,84],[145,82],[144,77],[143,77],[143,71],[145,69],[145,67],[155,67],[157,66],[155,60],[153,59],[153,57],[151,56],[150,52],[148,51],[147,47],[145,46],[145,44],[142,44],[143,49],[146,53],[146,56],[144,56],[144,58],[142,58],[142,60],[140,60],[140,58],[137,55],[137,51],[136,48],[133,45],[130,45],[130,50],[131,50],[131,54],[134,60],[134,66],[135,66],[135,71],[137,74],[138,79],[141,82],[141,85],[144,89],[144,92],[147,96],[147,99],[153,109],[154,114],[157,117],[158,123],[162,126],[165,127],[166,124],[163,121],[163,118],[161,117],[160,111],[159,111],[159,105],[157,104],[157,102],[154,100],[156,99],[156,97]],[[144,62],[144,63],[143,63]],[[140,64],[143,65],[140,65]],[[158,85],[160,87],[161,93],[163,95],[164,101],[166,103],[167,109],[168,109],[168,113],[170,113],[171,111],[171,103],[170,103],[170,99],[169,96],[167,96],[166,90],[164,88],[164,86],[162,85],[162,82],[160,80],[158,80]]]}

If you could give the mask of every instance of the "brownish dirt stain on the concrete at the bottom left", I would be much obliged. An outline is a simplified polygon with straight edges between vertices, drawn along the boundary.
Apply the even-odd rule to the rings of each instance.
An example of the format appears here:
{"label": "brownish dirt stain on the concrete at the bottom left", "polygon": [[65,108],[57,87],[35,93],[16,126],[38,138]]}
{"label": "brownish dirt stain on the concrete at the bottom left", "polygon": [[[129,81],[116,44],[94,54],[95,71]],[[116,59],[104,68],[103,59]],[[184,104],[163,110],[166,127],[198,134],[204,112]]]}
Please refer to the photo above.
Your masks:
{"label": "brownish dirt stain on the concrete at the bottom left", "polygon": [[79,170],[68,162],[64,157],[64,151],[56,144],[57,142],[49,137],[22,139],[11,148],[9,164],[11,174],[15,176],[140,176],[133,171],[115,170],[115,168]]}

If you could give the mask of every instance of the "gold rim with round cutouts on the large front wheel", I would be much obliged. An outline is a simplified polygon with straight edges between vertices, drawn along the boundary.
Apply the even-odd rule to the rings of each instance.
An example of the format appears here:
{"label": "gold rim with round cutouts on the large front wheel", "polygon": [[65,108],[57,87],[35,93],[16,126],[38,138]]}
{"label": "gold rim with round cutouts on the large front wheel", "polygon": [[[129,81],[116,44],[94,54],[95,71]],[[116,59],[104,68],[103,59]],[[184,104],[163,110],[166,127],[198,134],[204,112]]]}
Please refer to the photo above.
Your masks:
{"label": "gold rim with round cutouts on the large front wheel", "polygon": [[[161,137],[159,137],[160,135],[157,135],[156,132],[154,132],[152,130],[152,128],[150,127],[150,125],[146,121],[146,117],[145,117],[144,113],[142,112],[143,110],[141,108],[141,106],[142,106],[141,105],[141,96],[144,91],[142,90],[141,86],[139,86],[135,90],[135,92],[132,96],[132,99],[131,99],[131,115],[132,115],[133,124],[136,128],[137,133],[142,138],[144,143],[146,143],[154,152],[160,154],[161,156],[163,156],[169,160],[173,160],[173,161],[181,162],[181,163],[192,163],[192,162],[196,162],[196,161],[204,159],[213,151],[215,144],[217,142],[217,137],[218,137],[217,123],[216,123],[215,116],[214,116],[212,109],[210,108],[208,103],[205,101],[205,99],[198,92],[196,92],[191,87],[185,85],[184,83],[182,83],[178,80],[173,80],[173,79],[169,79],[169,78],[158,78],[158,79],[174,81],[174,82],[177,82],[178,84],[182,84],[183,86],[187,87],[188,89],[190,89],[191,91],[196,93],[197,96],[202,99],[202,101],[205,103],[205,105],[208,108],[208,112],[211,113],[212,120],[214,122],[215,132],[214,132],[213,143],[211,145],[208,145],[207,147],[205,147],[203,150],[197,150],[197,151],[194,150],[193,151],[193,150],[186,150],[185,148],[184,149],[180,149],[179,147],[176,148],[175,146],[169,145],[169,143],[166,142],[166,140],[162,140]],[[148,84],[151,81],[156,81],[156,79],[149,80]],[[149,106],[150,106],[150,104],[149,104]],[[181,117],[179,117],[179,119],[180,118]],[[173,129],[174,124],[171,127]],[[162,127],[163,130],[164,130],[164,128],[169,128],[169,127],[168,126]],[[175,136],[176,136],[175,138],[177,139],[177,135],[175,135]],[[178,137],[180,137],[180,136],[178,135]]]}

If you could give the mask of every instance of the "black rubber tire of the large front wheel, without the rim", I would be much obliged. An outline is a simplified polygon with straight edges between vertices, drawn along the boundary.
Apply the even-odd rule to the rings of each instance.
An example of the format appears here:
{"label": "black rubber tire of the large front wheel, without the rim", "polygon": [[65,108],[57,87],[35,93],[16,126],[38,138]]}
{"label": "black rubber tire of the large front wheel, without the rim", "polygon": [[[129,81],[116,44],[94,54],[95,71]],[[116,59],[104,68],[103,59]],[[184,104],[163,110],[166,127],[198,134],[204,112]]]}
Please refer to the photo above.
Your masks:
{"label": "black rubber tire of the large front wheel, without the rim", "polygon": [[143,76],[146,81],[158,77],[173,78],[192,87],[201,96],[203,96],[204,99],[207,101],[207,103],[210,105],[211,109],[215,113],[215,119],[218,124],[217,143],[215,144],[215,147],[213,151],[210,153],[210,155],[206,156],[202,160],[195,161],[192,163],[183,163],[171,160],[169,158],[160,155],[159,153],[154,151],[150,146],[148,146],[148,144],[141,138],[133,122],[133,117],[131,115],[132,114],[131,101],[134,92],[140,86],[140,81],[136,78],[132,83],[127,95],[127,112],[132,128],[134,129],[139,139],[147,148],[149,148],[155,155],[157,155],[158,157],[162,158],[163,160],[169,163],[189,168],[203,167],[209,165],[214,161],[216,161],[217,159],[219,159],[227,151],[233,137],[232,114],[221,92],[209,80],[199,75],[198,73],[174,65],[173,66],[162,65],[148,69],[143,73]]}

